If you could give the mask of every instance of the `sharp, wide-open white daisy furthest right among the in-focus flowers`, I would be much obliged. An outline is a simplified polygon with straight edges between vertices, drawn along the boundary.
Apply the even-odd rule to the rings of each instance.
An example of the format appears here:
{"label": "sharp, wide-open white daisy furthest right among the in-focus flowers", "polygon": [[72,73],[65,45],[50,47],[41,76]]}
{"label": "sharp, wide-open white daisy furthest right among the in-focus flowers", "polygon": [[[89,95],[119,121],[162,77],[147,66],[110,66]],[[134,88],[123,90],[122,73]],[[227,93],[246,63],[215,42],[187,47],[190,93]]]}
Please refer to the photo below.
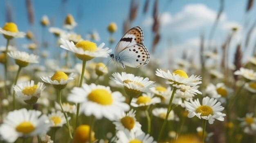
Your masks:
{"label": "sharp, wide-open white daisy furthest right among the in-focus flowers", "polygon": [[199,99],[184,101],[185,107],[189,111],[188,117],[192,118],[197,116],[199,119],[208,120],[209,124],[213,124],[215,119],[219,121],[224,121],[224,116],[221,111],[224,110],[220,102],[217,102],[217,99],[204,97],[202,105],[199,102]]}

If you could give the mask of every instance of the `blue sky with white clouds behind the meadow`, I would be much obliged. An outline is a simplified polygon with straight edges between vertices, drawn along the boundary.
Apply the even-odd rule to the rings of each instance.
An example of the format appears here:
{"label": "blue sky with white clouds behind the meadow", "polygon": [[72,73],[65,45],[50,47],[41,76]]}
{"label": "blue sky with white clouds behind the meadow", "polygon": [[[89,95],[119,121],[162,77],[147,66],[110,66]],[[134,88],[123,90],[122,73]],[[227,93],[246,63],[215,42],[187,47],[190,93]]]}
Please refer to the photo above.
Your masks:
{"label": "blue sky with white clouds behind the meadow", "polygon": [[[123,23],[128,18],[130,0],[66,1],[65,6],[61,7],[61,0],[32,0],[34,24],[31,26],[27,18],[26,0],[1,0],[0,26],[2,27],[6,22],[6,5],[9,4],[12,10],[13,21],[18,25],[18,29],[20,31],[33,31],[38,40],[41,39],[42,27],[40,26],[40,19],[43,15],[47,15],[49,19],[54,19],[52,26],[62,27],[63,20],[68,13],[71,13],[78,23],[74,31],[83,37],[85,37],[86,33],[97,30],[101,37],[100,42],[108,43],[109,33],[106,28],[110,22],[116,22],[118,26],[118,31],[114,33],[115,44],[123,35]],[[152,19],[154,0],[150,0],[149,11],[146,14],[142,13],[145,0],[137,0],[137,2],[139,3],[138,16],[132,23],[132,26],[141,26],[144,30],[144,44],[150,49],[153,39],[150,19]],[[243,27],[247,19],[250,20],[250,26],[255,21],[255,16],[253,15],[256,13],[256,9],[253,8],[249,13],[245,13],[246,4],[247,0],[225,0],[224,16],[214,37],[216,45],[220,45],[225,40],[229,32],[227,30],[228,26],[238,24]],[[180,51],[184,51],[184,46],[197,42],[202,32],[208,37],[209,29],[216,17],[219,5],[219,0],[172,0],[171,2],[170,0],[159,0],[159,14],[164,15],[161,20],[165,21],[165,24],[161,25],[160,32],[162,38],[157,45],[156,56],[163,54],[165,50],[168,51],[167,53],[172,54],[173,50],[177,51],[175,47],[178,47]],[[238,35],[238,41],[240,40],[239,38],[243,37],[243,33],[246,33],[246,29],[249,26],[245,26]],[[47,33],[47,37],[47,40],[53,43],[54,37],[50,33]],[[172,43],[171,50],[168,49],[170,47],[168,44],[170,39]],[[97,44],[100,44],[100,42]],[[4,38],[1,36],[0,46],[5,45],[5,43]],[[26,51],[22,48],[22,44],[26,43],[29,42],[25,39],[16,40],[20,51]],[[234,42],[235,44],[236,42]],[[194,44],[192,46],[197,45]]]}

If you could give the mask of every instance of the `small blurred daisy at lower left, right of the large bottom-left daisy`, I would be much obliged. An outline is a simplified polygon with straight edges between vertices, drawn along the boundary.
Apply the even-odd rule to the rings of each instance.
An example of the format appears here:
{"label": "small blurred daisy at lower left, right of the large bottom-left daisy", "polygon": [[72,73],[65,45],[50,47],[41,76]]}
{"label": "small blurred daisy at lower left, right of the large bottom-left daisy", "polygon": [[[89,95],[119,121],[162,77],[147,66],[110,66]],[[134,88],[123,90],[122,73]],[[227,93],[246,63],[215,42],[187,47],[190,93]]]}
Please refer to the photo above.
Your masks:
{"label": "small blurred daisy at lower left, right of the large bottom-left daisy", "polygon": [[[61,111],[56,111],[48,114],[48,119],[50,121],[51,128],[59,128],[67,123],[64,114]],[[70,117],[68,117],[68,119],[70,120]]]}

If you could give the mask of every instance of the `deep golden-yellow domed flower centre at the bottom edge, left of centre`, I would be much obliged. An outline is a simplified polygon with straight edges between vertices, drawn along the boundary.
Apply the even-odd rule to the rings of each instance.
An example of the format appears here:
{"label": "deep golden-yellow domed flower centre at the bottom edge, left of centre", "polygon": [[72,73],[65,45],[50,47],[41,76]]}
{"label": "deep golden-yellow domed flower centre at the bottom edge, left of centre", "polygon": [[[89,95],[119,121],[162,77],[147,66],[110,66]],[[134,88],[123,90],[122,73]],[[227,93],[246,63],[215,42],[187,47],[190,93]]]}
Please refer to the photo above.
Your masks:
{"label": "deep golden-yellow domed flower centre at the bottom edge, left of centre", "polygon": [[[80,125],[75,132],[73,143],[86,143],[89,140],[90,126]],[[94,132],[91,134],[91,141],[94,141]]]}

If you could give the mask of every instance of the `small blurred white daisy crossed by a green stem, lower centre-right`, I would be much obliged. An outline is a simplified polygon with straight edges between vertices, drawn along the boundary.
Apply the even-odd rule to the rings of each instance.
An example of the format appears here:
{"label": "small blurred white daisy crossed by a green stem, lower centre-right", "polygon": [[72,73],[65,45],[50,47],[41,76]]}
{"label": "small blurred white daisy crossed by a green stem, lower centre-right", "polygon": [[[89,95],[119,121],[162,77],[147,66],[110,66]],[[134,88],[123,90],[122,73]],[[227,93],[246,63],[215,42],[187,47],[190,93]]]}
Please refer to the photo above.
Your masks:
{"label": "small blurred white daisy crossed by a green stem, lower centre-right", "polygon": [[[161,118],[161,119],[165,119],[166,118],[166,113],[167,113],[167,108],[155,108],[152,110],[152,114],[155,116],[155,117],[158,117],[158,118]],[[171,121],[171,120],[175,120],[175,121],[179,121],[179,117],[177,117],[173,110],[171,110],[171,112],[169,113],[168,115],[168,118],[167,118],[168,121]]]}

